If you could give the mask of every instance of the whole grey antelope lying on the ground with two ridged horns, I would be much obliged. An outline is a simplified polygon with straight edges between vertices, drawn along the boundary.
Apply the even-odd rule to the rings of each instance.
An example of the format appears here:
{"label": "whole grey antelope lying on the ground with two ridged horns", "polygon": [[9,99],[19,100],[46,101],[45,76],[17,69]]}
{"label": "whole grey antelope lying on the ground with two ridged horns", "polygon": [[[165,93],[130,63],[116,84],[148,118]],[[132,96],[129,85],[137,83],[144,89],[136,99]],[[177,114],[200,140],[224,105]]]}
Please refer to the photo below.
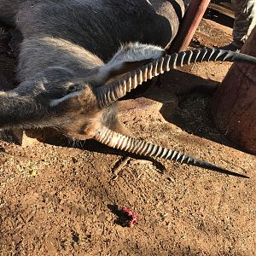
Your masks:
{"label": "whole grey antelope lying on the ground with two ridged horns", "polygon": [[[163,47],[170,44],[178,26],[174,3],[0,0],[0,19],[15,25],[23,37],[20,85],[0,92],[0,127],[58,127],[69,137],[94,138],[113,148],[234,174],[130,137],[117,118],[120,97],[170,68],[212,60],[256,64],[256,58],[224,50],[166,55]],[[182,14],[183,3],[178,6]],[[124,78],[116,79],[124,73]]]}

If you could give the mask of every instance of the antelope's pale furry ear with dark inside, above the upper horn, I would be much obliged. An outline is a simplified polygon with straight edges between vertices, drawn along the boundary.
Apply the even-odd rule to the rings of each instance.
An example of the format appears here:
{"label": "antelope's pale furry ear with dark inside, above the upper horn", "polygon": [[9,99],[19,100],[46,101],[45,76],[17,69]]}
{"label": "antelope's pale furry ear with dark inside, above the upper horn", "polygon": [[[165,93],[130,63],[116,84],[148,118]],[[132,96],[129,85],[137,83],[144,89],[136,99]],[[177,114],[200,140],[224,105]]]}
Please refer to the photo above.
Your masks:
{"label": "antelope's pale furry ear with dark inside, above the upper horn", "polygon": [[[115,76],[142,67],[149,61],[166,55],[165,49],[151,44],[130,43],[123,45],[108,63],[98,70],[99,77],[106,83]],[[102,83],[102,84],[103,84]]]}

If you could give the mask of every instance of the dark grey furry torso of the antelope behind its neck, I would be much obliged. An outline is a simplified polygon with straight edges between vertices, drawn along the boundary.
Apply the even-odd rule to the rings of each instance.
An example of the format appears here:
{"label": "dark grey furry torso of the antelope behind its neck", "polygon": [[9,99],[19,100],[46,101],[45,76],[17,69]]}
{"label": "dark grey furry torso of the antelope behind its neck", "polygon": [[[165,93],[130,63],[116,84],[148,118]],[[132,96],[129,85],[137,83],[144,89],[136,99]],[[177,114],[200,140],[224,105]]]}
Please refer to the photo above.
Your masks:
{"label": "dark grey furry torso of the antelope behind its neck", "polygon": [[183,0],[1,0],[0,19],[14,20],[24,38],[50,35],[108,61],[129,42],[165,48],[183,17]]}

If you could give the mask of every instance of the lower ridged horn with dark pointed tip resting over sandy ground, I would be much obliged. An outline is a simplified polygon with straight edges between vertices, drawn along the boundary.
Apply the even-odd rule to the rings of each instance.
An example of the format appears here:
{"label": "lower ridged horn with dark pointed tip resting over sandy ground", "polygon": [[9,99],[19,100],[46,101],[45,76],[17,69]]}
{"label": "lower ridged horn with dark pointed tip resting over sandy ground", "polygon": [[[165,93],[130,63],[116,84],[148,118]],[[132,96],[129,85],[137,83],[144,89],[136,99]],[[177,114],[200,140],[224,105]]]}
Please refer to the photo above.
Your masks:
{"label": "lower ridged horn with dark pointed tip resting over sandy ground", "polygon": [[143,140],[134,137],[125,136],[116,131],[108,129],[106,126],[99,128],[96,131],[94,138],[96,141],[103,143],[108,147],[125,150],[126,152],[140,154],[143,156],[157,157],[165,160],[173,160],[191,166],[199,166],[208,170],[233,175],[236,177],[247,177],[240,173],[230,172],[224,168],[214,166],[210,163],[207,163],[206,161],[198,160],[192,156],[182,154],[176,150],[160,147],[153,143],[146,143]]}

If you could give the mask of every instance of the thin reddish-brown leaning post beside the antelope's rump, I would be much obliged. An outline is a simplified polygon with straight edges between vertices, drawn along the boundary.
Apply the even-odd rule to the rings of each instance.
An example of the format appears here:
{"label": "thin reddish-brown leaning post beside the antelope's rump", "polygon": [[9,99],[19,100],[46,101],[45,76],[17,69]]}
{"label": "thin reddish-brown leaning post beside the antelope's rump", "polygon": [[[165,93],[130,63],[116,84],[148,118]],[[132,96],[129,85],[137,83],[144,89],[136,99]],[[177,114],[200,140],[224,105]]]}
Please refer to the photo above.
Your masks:
{"label": "thin reddish-brown leaning post beside the antelope's rump", "polygon": [[183,17],[177,36],[172,42],[170,48],[172,52],[179,52],[188,48],[209,3],[210,0],[191,0],[189,2],[189,8]]}

